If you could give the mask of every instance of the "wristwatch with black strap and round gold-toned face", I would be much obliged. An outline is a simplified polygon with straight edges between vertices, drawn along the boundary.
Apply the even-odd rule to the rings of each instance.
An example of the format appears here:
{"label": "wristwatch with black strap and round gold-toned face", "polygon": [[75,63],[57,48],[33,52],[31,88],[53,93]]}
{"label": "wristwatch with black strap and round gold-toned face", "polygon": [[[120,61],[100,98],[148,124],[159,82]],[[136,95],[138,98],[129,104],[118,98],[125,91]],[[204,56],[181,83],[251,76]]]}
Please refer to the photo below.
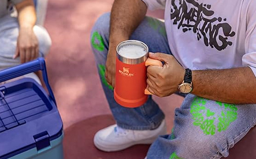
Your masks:
{"label": "wristwatch with black strap and round gold-toned face", "polygon": [[188,94],[192,91],[192,89],[192,71],[190,69],[186,69],[184,80],[182,84],[178,85],[178,90],[180,93]]}

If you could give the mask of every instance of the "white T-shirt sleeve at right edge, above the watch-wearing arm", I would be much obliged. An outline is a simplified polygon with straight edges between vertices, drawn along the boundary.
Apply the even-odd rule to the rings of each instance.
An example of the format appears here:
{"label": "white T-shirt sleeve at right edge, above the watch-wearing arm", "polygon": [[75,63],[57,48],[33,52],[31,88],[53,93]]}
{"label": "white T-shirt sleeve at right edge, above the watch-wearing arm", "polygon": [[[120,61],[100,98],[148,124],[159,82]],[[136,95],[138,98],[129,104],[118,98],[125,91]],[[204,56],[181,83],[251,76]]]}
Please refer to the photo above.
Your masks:
{"label": "white T-shirt sleeve at right edge, above the watch-wearing arm", "polygon": [[247,28],[245,39],[245,55],[242,57],[243,66],[252,69],[256,77],[256,1],[252,0],[247,12]]}

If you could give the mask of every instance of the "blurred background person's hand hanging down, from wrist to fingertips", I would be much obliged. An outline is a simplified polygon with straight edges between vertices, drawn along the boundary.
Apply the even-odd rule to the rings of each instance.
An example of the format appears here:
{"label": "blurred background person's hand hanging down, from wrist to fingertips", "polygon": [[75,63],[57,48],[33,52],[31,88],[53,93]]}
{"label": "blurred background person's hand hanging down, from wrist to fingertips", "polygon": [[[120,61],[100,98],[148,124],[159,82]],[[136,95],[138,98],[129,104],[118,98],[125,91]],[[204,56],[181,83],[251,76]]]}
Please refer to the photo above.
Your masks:
{"label": "blurred background person's hand hanging down, from wrist to fingertips", "polygon": [[38,40],[33,28],[20,28],[14,59],[20,56],[21,63],[24,63],[36,59],[38,55]]}

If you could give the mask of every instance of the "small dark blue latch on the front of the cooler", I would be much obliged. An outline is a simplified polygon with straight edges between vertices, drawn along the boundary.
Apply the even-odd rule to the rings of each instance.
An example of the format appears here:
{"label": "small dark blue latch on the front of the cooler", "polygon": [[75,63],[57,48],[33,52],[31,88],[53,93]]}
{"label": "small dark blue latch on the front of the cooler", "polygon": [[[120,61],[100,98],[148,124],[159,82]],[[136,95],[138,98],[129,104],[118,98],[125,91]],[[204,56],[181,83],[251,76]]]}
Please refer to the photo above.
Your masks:
{"label": "small dark blue latch on the front of the cooler", "polygon": [[41,150],[45,147],[50,146],[50,136],[47,131],[43,131],[33,136],[36,141],[36,149]]}

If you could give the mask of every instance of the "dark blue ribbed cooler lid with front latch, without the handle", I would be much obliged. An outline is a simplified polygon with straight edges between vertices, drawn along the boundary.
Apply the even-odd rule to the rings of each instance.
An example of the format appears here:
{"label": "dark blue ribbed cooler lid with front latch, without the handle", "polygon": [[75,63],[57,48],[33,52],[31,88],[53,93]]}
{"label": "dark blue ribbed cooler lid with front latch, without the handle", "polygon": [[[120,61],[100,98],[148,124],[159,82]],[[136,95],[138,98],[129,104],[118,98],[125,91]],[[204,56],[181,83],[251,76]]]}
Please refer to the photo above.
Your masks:
{"label": "dark blue ribbed cooler lid with front latch, without the handle", "polygon": [[62,134],[54,102],[31,78],[0,85],[0,158],[37,147],[43,149]]}

